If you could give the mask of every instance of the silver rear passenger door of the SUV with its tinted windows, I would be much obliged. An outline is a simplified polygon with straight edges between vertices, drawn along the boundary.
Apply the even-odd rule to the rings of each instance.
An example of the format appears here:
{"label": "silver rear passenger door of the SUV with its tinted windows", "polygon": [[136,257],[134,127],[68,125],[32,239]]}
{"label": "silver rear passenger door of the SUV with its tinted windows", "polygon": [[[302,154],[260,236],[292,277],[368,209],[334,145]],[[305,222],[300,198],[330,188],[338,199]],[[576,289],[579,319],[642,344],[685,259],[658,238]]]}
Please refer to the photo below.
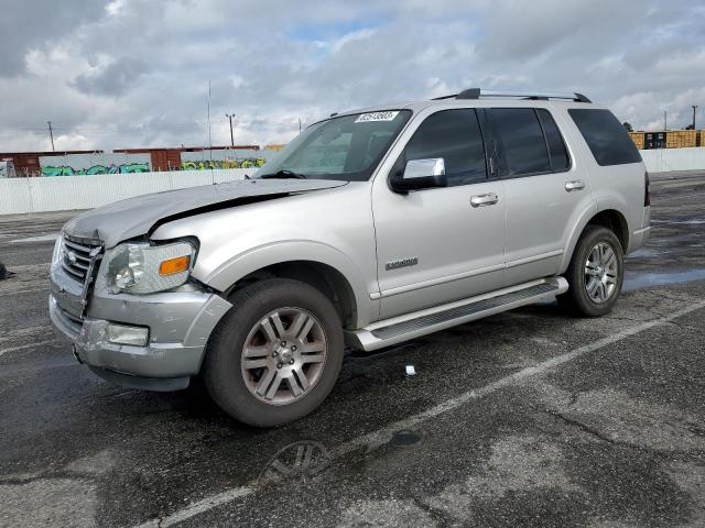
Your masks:
{"label": "silver rear passenger door of the SUV with its tinted windows", "polygon": [[589,180],[545,108],[489,108],[507,198],[505,286],[555,275],[572,229],[594,207]]}

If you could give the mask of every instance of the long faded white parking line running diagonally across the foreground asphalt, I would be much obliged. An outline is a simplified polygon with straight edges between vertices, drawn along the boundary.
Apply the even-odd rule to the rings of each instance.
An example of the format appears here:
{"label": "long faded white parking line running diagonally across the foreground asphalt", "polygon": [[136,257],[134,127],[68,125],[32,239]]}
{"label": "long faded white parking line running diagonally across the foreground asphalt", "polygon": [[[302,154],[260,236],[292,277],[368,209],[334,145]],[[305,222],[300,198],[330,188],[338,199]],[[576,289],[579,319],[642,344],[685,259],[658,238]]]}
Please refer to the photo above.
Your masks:
{"label": "long faded white parking line running diagonally across the foreground asphalt", "polygon": [[[435,407],[431,407],[430,409],[423,413],[420,413],[417,415],[410,416],[409,418],[404,418],[403,420],[399,420],[393,424],[390,424],[389,426],[383,427],[382,429],[378,429],[377,431],[372,431],[367,435],[357,437],[346,443],[343,443],[338,448],[333,449],[329,452],[328,458],[330,461],[334,461],[365,446],[368,446],[368,447],[382,446],[387,443],[391,439],[391,437],[394,435],[394,432],[399,431],[400,429],[411,429],[414,426],[417,426],[419,424],[424,422],[431,418],[435,418],[451,410],[455,410],[469,402],[488,396],[489,394],[492,394],[501,388],[505,388],[511,385],[518,385],[519,383],[521,383],[527,378],[543,374],[552,369],[555,369],[556,366],[560,366],[564,363],[576,360],[582,355],[585,355],[590,352],[595,352],[596,350],[599,350],[599,349],[604,349],[605,346],[608,346],[618,341],[621,341],[622,339],[629,338],[631,336],[643,332],[646,330],[650,330],[665,322],[670,322],[673,319],[677,319],[679,317],[683,317],[687,314],[691,314],[692,311],[699,310],[701,308],[705,308],[705,300],[691,305],[690,307],[683,308],[682,310],[675,311],[670,316],[654,319],[653,321],[644,322],[641,324],[637,324],[636,327],[628,328],[612,336],[598,339],[597,341],[594,341],[584,346],[566,352],[565,354],[551,358],[550,360],[546,360],[534,366],[522,369],[521,371],[510,374],[509,376],[502,377],[501,380],[497,380],[496,382],[492,382],[489,385],[485,385],[484,387],[480,387],[478,389],[468,391],[467,393],[464,393],[460,396],[443,402],[442,404],[438,404]],[[205,512],[209,512],[210,509],[214,509],[218,506],[221,506],[231,501],[235,501],[236,498],[241,498],[241,497],[251,495],[254,491],[256,491],[254,483],[250,483],[249,486],[234,487],[223,493],[219,493],[217,495],[213,495],[210,497],[193,503],[186,506],[185,508],[180,509],[178,512],[167,517],[164,517],[162,519],[152,519],[144,524],[138,525],[135,528],[148,528],[148,527],[153,528],[153,527],[173,526],[178,522],[183,522],[186,519],[195,517],[196,515],[203,514]]]}

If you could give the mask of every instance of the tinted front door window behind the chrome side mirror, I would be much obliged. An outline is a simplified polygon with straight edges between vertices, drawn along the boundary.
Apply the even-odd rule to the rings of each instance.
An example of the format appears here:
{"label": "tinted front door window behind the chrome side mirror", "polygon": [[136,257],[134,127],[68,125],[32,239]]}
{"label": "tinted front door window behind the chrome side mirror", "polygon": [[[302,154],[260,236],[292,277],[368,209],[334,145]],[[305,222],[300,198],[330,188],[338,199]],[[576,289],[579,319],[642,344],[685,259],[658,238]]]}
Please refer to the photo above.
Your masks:
{"label": "tinted front door window behind the chrome side mirror", "polygon": [[429,116],[409,140],[405,158],[443,157],[448,185],[487,177],[485,145],[475,110],[443,110]]}

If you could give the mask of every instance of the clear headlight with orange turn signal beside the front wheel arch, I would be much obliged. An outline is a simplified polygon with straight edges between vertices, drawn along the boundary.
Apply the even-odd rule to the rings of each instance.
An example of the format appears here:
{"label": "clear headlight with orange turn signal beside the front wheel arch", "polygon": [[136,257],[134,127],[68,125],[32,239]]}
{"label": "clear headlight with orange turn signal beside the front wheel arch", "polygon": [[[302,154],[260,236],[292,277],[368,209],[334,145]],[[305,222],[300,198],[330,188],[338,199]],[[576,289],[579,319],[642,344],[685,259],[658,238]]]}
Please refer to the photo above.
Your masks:
{"label": "clear headlight with orange turn signal beside the front wheel arch", "polygon": [[96,288],[113,294],[172,289],[188,280],[195,257],[196,248],[189,242],[120,244],[104,256]]}

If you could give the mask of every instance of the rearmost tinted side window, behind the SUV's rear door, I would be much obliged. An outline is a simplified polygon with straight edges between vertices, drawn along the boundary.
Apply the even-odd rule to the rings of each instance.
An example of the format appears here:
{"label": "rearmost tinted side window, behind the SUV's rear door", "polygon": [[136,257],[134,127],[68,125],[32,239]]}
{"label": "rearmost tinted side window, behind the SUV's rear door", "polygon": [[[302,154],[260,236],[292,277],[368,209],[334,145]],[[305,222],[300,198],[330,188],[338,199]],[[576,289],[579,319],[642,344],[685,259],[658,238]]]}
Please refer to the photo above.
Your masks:
{"label": "rearmost tinted side window, behind the SUV's rear door", "polygon": [[622,165],[641,161],[625,127],[609,110],[572,109],[568,113],[598,165]]}

